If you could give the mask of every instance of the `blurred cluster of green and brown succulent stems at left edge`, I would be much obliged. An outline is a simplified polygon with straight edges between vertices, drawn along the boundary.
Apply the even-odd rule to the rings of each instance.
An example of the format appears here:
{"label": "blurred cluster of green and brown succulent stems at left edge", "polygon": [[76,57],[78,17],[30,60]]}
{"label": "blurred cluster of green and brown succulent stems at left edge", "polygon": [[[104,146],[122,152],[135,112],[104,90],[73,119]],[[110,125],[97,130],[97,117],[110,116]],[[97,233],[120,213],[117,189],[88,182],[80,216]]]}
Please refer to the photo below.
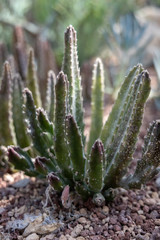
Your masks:
{"label": "blurred cluster of green and brown succulent stems at left edge", "polygon": [[[36,57],[33,49],[28,48],[23,30],[20,26],[13,31],[13,49],[9,55],[5,44],[0,44],[0,62],[4,67],[0,71],[2,75],[0,90],[0,166],[8,167],[6,147],[10,144],[21,148],[30,149],[31,139],[26,131],[25,116],[23,113],[24,87],[28,87],[33,94],[35,105],[49,107],[46,103],[47,74],[48,70],[55,69],[55,61],[51,48],[47,41],[42,41],[39,36],[35,42]],[[36,71],[38,66],[38,71]],[[17,74],[18,73],[18,74]],[[39,91],[40,89],[40,91]],[[48,89],[49,91],[49,89]],[[47,93],[48,96],[51,93]],[[53,95],[53,94],[52,94]],[[52,99],[52,96],[51,96]],[[47,101],[50,101],[47,98]],[[46,106],[46,104],[48,104]],[[53,117],[53,107],[47,110]]]}

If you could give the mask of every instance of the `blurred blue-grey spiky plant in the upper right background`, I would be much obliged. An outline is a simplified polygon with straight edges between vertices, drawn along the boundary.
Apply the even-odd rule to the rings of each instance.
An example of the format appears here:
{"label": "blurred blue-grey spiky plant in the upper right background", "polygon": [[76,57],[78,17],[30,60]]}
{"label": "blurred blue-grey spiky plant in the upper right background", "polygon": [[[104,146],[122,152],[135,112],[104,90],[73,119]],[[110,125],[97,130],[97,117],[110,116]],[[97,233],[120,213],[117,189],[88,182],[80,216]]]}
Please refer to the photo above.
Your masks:
{"label": "blurred blue-grey spiky plant in the upper right background", "polygon": [[147,25],[141,25],[134,12],[130,12],[117,21],[111,19],[109,27],[104,31],[106,43],[111,51],[111,57],[107,63],[111,88],[107,86],[107,92],[113,97],[121,86],[122,76],[127,74],[127,71],[137,62],[143,62],[146,46],[152,39],[148,36],[145,41],[142,41],[146,29]]}

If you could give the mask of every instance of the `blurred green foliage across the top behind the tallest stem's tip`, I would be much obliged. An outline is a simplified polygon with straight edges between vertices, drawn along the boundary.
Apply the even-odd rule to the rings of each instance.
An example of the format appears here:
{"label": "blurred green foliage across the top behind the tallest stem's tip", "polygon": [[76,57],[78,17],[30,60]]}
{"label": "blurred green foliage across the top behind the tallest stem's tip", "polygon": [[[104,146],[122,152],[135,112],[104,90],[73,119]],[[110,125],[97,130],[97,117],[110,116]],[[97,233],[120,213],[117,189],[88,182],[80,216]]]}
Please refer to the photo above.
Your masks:
{"label": "blurred green foliage across the top behind the tallest stem's tip", "polygon": [[[118,19],[121,15],[143,6],[142,0],[6,0],[0,2],[0,34],[11,46],[10,32],[6,25],[20,24],[33,35],[40,33],[43,39],[52,43],[58,63],[63,52],[62,32],[72,24],[78,32],[80,63],[106,47],[103,29],[107,28],[110,18]],[[57,40],[58,39],[58,40]]]}

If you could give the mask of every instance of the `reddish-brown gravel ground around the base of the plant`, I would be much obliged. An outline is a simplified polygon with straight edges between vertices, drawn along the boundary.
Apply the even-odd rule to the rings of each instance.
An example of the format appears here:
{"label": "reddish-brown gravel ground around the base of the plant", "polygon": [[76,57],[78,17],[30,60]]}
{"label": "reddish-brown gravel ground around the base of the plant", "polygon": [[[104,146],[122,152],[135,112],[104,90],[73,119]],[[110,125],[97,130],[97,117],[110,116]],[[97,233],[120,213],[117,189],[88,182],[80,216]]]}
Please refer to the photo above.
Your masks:
{"label": "reddish-brown gravel ground around the base of the plant", "polygon": [[[109,114],[111,104],[105,108]],[[141,156],[149,122],[160,118],[153,101],[146,104],[143,125],[135,152]],[[89,129],[89,107],[86,111]],[[112,203],[96,207],[91,199],[75,197],[70,209],[64,209],[59,196],[47,181],[29,178],[23,173],[5,173],[0,178],[0,240],[158,240],[160,239],[160,177],[141,190],[119,189]]]}

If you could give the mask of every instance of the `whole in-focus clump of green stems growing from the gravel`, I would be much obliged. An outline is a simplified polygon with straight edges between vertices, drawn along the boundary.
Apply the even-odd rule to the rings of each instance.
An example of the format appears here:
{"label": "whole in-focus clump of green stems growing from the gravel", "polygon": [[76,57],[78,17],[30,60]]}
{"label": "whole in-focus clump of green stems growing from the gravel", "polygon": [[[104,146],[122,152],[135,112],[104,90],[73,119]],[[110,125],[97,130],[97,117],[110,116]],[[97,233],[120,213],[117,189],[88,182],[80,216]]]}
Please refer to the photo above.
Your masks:
{"label": "whole in-focus clump of green stems growing from the gravel", "polygon": [[24,90],[28,132],[39,156],[32,159],[20,147],[8,148],[9,159],[17,169],[48,177],[53,189],[62,193],[65,207],[70,206],[71,193],[83,199],[92,197],[101,205],[112,189],[140,188],[157,174],[160,163],[160,121],[154,121],[135,172],[127,172],[150,92],[148,72],[141,65],[129,72],[103,125],[103,65],[100,59],[96,60],[91,129],[86,143],[78,65],[76,32],[69,26],[65,32],[62,71],[57,79],[49,73],[46,111],[36,107],[30,90]]}

